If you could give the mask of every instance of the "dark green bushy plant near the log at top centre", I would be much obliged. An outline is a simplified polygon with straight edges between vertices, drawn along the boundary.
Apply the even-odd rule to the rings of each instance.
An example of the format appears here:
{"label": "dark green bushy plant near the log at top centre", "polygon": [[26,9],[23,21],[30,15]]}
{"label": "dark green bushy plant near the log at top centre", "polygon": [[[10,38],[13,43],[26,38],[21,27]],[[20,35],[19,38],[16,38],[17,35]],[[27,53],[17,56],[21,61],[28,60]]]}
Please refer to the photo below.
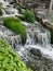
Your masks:
{"label": "dark green bushy plant near the log at top centre", "polygon": [[27,22],[35,22],[35,13],[32,10],[26,10],[23,14]]}

